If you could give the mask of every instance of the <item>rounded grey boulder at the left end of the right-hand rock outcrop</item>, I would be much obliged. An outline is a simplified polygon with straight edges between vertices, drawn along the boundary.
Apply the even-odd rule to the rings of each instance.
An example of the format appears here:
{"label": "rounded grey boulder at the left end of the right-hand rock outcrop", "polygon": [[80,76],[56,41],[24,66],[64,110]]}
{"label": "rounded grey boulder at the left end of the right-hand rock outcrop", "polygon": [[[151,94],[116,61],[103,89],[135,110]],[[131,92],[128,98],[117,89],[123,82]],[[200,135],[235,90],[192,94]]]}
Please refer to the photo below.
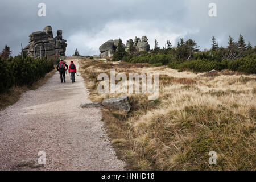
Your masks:
{"label": "rounded grey boulder at the left end of the right-hand rock outcrop", "polygon": [[[122,40],[121,40],[122,42]],[[116,40],[108,40],[104,44],[100,46],[100,57],[113,57],[115,51],[117,50],[117,46],[119,43],[119,39]],[[125,47],[125,44],[123,44],[123,47]]]}

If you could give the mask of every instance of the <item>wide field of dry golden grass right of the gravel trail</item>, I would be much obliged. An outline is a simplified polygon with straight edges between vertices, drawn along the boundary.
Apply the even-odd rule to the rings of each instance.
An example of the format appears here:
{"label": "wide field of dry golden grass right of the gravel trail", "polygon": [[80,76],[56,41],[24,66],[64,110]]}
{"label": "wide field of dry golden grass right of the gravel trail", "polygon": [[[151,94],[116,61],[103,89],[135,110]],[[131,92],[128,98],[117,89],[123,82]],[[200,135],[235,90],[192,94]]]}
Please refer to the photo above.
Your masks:
{"label": "wide field of dry golden grass right of the gravel trail", "polygon": [[[92,101],[124,94],[98,94],[97,75],[159,73],[159,98],[129,95],[129,114],[103,110],[109,137],[128,169],[255,170],[256,76],[177,72],[143,64],[80,60]],[[209,165],[209,151],[217,165]]]}

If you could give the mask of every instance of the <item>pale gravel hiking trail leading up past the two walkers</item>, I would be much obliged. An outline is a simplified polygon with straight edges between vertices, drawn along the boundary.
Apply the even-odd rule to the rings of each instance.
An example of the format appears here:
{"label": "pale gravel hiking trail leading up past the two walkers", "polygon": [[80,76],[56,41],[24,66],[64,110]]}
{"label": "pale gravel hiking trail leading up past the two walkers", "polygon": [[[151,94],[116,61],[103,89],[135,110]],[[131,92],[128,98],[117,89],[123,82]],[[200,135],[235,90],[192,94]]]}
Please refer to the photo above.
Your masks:
{"label": "pale gravel hiking trail leading up past the two walkers", "polygon": [[[67,60],[69,63],[69,60]],[[77,69],[78,60],[75,60]],[[101,110],[81,109],[90,102],[81,76],[61,84],[59,73],[20,101],[0,111],[0,170],[122,170],[101,121]],[[38,152],[46,152],[39,166]]]}

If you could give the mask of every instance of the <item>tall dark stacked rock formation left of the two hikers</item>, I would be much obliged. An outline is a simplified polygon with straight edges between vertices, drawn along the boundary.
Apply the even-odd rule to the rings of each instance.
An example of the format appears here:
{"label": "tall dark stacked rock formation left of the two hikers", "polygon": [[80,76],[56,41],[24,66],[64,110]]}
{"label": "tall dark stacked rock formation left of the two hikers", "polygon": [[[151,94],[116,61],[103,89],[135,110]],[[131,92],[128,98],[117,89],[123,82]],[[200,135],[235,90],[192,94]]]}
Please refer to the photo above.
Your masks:
{"label": "tall dark stacked rock formation left of the two hikers", "polygon": [[57,36],[53,38],[52,27],[47,26],[43,31],[34,32],[29,37],[29,44],[23,49],[28,56],[65,56],[67,40],[62,39],[62,30],[57,30]]}

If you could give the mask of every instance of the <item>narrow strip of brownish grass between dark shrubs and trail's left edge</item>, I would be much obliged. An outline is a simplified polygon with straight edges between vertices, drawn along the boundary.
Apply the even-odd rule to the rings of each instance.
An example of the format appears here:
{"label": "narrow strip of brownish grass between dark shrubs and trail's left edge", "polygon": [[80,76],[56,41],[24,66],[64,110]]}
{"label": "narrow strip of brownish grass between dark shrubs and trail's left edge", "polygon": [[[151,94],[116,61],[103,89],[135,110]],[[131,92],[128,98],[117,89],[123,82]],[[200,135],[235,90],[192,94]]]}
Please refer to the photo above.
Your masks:
{"label": "narrow strip of brownish grass between dark shrubs and trail's left edge", "polygon": [[15,104],[15,102],[17,102],[21,96],[21,94],[23,92],[26,92],[28,89],[30,90],[35,90],[38,89],[39,86],[42,86],[43,84],[45,84],[47,82],[47,80],[53,76],[53,74],[56,71],[53,70],[49,73],[46,74],[46,76],[44,78],[41,78],[40,80],[36,81],[34,84],[32,84],[32,86],[15,86],[9,90],[7,90],[7,92],[0,94],[0,110],[5,109],[5,107],[9,106],[9,105],[13,105]]}

